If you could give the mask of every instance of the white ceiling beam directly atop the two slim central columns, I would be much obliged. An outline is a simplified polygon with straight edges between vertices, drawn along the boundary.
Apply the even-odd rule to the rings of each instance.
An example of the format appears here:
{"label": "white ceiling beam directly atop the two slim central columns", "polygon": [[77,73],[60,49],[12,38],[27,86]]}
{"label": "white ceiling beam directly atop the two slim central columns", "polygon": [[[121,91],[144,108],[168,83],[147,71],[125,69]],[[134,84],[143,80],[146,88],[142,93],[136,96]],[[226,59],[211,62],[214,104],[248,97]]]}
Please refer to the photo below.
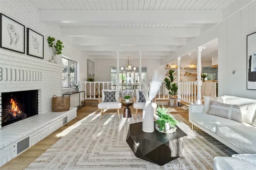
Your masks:
{"label": "white ceiling beam directly atop the two slim central columns", "polygon": [[[116,56],[116,51],[85,51],[88,56]],[[170,52],[167,51],[142,51],[142,56],[169,56]],[[134,52],[119,52],[119,56],[131,56],[137,58],[138,51]]]}

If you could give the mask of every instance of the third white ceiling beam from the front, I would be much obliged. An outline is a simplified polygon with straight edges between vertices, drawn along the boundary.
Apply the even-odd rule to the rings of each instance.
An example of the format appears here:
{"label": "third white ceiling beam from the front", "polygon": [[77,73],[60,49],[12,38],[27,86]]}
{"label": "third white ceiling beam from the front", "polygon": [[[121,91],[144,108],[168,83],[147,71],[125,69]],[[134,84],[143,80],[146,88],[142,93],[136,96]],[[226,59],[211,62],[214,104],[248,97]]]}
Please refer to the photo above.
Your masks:
{"label": "third white ceiling beam from the front", "polygon": [[169,45],[169,46],[184,46],[186,38],[72,38],[72,44],[82,46],[96,45]]}

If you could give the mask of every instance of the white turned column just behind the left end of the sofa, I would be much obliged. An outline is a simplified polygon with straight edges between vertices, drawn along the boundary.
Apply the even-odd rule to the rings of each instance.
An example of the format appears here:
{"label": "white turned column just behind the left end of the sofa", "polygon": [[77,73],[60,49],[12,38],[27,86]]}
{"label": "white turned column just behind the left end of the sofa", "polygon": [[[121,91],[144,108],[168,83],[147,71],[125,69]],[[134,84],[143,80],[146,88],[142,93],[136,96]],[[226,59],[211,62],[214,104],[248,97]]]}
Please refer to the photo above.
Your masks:
{"label": "white turned column just behind the left end of the sofa", "polygon": [[201,80],[201,52],[202,52],[202,46],[198,47],[197,51],[197,100],[196,104],[202,104],[202,96],[201,96],[201,86],[202,86],[202,80]]}

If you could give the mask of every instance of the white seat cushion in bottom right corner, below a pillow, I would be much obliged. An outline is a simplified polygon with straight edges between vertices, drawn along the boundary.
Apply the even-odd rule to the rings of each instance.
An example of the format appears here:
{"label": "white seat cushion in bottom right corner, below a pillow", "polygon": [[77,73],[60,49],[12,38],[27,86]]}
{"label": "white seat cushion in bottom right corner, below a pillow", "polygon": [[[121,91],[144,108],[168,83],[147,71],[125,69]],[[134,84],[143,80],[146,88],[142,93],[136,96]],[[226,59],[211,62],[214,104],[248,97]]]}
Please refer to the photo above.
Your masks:
{"label": "white seat cushion in bottom right corner, below a pillow", "polygon": [[213,163],[214,170],[254,170],[256,166],[238,158],[215,157]]}

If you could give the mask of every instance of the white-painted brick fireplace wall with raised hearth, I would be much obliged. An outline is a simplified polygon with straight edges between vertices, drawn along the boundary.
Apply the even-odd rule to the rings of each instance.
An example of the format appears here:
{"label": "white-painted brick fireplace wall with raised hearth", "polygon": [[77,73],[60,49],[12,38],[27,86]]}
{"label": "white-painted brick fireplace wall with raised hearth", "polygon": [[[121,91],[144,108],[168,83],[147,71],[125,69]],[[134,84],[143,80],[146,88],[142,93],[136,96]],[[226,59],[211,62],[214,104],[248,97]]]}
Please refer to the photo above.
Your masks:
{"label": "white-painted brick fireplace wall with raised hearth", "polygon": [[[60,27],[39,21],[38,9],[27,0],[1,0],[0,12],[44,36],[44,59],[0,48],[0,116],[2,116],[2,92],[38,90],[38,115],[20,120],[2,128],[0,117],[0,166],[17,156],[17,142],[30,136],[33,146],[60,128],[62,118],[68,122],[76,117],[76,109],[67,112],[51,112],[52,96],[61,96],[61,57],[58,64],[50,63],[52,48],[47,37],[60,39]],[[65,46],[65,44],[64,44]],[[29,125],[29,126],[28,126]]]}

